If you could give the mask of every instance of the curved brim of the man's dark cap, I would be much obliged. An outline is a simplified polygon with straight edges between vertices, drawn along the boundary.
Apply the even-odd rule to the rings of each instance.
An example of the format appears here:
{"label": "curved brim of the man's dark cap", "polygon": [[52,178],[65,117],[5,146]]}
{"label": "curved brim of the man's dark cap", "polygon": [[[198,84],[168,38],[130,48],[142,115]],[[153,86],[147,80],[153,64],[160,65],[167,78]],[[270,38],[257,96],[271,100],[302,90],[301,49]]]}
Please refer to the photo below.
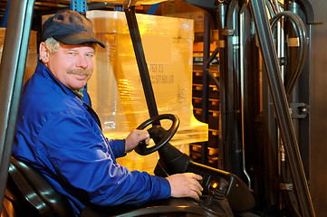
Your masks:
{"label": "curved brim of the man's dark cap", "polygon": [[80,44],[83,42],[96,42],[102,48],[105,48],[103,42],[100,42],[97,38],[89,33],[72,33],[72,34],[62,34],[62,35],[55,35],[53,38],[59,42],[63,42],[65,44]]}

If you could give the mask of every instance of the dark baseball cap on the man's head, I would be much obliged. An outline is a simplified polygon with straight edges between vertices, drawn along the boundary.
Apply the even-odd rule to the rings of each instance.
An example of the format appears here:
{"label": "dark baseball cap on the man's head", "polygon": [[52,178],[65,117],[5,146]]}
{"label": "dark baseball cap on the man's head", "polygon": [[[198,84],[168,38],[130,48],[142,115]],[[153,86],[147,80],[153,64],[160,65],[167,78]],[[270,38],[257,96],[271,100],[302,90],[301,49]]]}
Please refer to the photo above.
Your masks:
{"label": "dark baseball cap on the man's head", "polygon": [[105,48],[95,37],[91,21],[76,11],[64,10],[50,16],[43,24],[43,40],[50,37],[65,44],[96,42]]}

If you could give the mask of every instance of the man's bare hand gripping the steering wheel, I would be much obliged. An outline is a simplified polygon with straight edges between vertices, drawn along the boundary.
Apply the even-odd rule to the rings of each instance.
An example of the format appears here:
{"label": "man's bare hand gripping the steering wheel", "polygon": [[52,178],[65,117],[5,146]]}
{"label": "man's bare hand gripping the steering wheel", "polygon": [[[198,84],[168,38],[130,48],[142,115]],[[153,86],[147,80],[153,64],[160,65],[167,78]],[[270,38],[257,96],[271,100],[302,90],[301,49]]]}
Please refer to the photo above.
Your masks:
{"label": "man's bare hand gripping the steering wheel", "polygon": [[125,153],[131,152],[142,140],[145,140],[145,144],[149,145],[149,132],[144,129],[133,129],[125,139]]}

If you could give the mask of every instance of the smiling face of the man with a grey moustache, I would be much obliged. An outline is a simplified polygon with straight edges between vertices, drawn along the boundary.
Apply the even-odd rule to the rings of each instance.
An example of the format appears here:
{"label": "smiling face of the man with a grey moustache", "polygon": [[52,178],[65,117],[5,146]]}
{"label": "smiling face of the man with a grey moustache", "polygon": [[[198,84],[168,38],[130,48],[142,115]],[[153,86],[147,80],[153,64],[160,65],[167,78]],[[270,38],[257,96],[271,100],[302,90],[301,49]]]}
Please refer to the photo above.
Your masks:
{"label": "smiling face of the man with a grey moustache", "polygon": [[61,43],[45,65],[64,86],[80,90],[91,78],[93,58],[94,49],[89,46]]}

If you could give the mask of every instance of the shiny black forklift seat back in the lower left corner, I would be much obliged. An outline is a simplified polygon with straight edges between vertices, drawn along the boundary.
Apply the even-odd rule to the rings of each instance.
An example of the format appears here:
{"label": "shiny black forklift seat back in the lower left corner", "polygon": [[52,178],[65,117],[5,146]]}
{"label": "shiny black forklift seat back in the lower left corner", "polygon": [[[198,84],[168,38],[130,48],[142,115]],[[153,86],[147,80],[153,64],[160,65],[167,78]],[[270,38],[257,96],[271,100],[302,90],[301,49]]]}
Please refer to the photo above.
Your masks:
{"label": "shiny black forklift seat back in the lower left corner", "polygon": [[15,216],[72,217],[72,206],[63,194],[32,166],[11,156],[5,202],[12,203]]}

